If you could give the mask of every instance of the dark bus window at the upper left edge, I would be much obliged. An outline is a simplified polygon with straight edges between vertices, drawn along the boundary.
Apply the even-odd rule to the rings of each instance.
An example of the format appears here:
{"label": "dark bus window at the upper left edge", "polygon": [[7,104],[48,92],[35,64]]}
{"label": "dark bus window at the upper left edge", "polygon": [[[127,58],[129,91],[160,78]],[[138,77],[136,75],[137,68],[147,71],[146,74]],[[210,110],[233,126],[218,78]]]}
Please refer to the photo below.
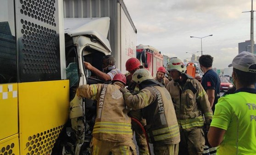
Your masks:
{"label": "dark bus window at the upper left edge", "polygon": [[0,83],[17,82],[13,0],[0,0]]}

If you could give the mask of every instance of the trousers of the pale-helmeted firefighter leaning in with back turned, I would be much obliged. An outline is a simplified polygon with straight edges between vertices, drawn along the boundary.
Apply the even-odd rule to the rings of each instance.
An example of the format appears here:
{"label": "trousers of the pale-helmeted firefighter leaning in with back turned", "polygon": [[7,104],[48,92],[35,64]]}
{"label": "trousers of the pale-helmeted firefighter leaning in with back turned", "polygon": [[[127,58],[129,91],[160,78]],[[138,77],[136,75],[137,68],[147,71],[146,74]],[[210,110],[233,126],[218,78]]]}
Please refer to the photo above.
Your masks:
{"label": "trousers of the pale-helmeted firefighter leaning in with back turned", "polygon": [[155,155],[178,155],[178,144],[153,144]]}

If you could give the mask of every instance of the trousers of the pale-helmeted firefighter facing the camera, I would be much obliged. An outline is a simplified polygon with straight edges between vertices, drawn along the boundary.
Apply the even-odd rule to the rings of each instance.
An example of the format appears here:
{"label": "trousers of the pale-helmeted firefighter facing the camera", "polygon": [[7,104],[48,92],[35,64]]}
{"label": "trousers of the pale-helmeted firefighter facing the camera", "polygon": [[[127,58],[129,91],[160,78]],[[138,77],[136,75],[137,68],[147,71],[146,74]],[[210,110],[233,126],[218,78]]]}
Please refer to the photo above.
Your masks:
{"label": "trousers of the pale-helmeted firefighter facing the camera", "polygon": [[180,129],[180,143],[178,155],[202,155],[205,137],[202,128],[193,128],[190,131]]}

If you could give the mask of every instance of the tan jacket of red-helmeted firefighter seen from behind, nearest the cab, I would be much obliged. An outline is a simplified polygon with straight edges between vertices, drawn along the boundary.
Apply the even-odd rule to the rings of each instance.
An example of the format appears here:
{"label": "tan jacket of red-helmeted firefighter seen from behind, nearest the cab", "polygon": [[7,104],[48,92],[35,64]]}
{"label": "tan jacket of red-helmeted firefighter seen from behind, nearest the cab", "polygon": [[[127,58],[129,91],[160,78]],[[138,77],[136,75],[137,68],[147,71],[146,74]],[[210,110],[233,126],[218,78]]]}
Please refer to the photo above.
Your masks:
{"label": "tan jacket of red-helmeted firefighter seen from behind, nearest the cab", "polygon": [[131,118],[119,89],[123,84],[91,84],[78,87],[77,95],[97,100],[97,117],[93,137],[110,142],[124,142],[133,137]]}

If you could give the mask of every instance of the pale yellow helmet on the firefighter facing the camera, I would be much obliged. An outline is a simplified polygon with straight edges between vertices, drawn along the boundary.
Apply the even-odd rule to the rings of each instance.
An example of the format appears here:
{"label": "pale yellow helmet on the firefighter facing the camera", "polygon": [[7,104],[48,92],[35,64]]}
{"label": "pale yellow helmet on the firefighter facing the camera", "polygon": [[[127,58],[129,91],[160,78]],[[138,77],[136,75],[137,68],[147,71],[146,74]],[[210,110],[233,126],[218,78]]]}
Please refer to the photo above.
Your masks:
{"label": "pale yellow helmet on the firefighter facing the camera", "polygon": [[186,67],[180,59],[174,58],[174,59],[171,59],[170,62],[167,64],[166,70],[179,71],[181,73],[185,73]]}

